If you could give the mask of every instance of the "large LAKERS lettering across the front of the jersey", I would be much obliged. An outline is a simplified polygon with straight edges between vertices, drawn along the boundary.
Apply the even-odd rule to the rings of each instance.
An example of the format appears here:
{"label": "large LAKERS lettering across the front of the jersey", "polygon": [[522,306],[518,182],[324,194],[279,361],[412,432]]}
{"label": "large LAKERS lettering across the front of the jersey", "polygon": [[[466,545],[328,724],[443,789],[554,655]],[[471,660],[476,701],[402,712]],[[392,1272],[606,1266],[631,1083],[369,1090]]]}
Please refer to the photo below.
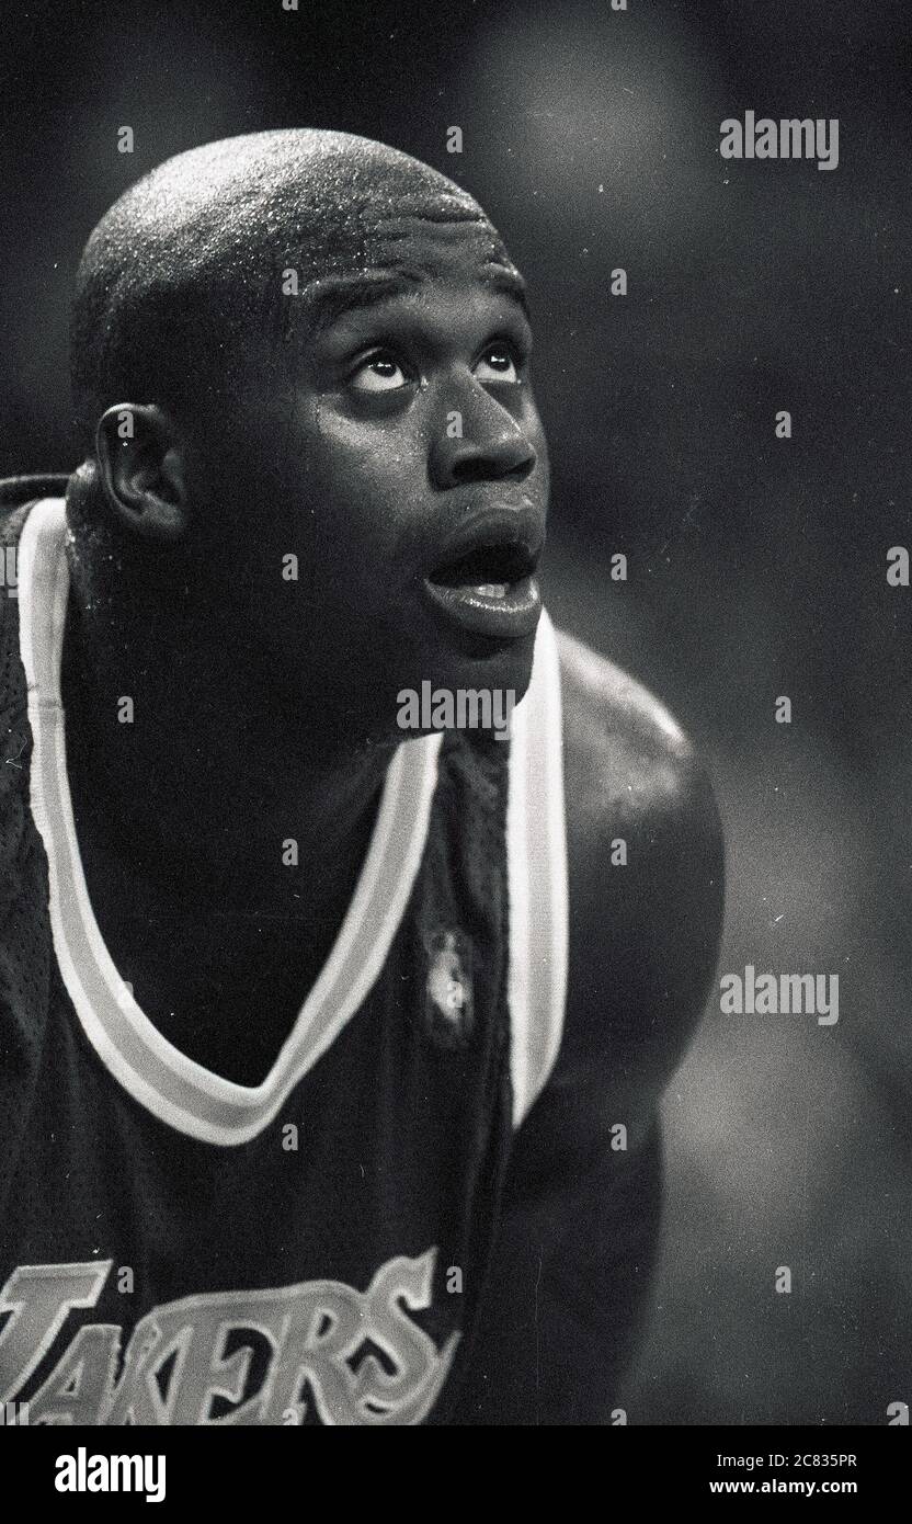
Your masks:
{"label": "large LAKERS lettering across the front of the jersey", "polygon": [[[140,1318],[123,1358],[119,1324],[84,1323],[30,1396],[29,1422],[422,1423],[460,1340],[454,1332],[437,1349],[408,1317],[431,1306],[435,1256],[388,1260],[364,1292],[305,1280],[183,1297]],[[70,1311],[96,1305],[111,1265],[11,1274],[0,1292],[0,1404],[21,1393]]]}

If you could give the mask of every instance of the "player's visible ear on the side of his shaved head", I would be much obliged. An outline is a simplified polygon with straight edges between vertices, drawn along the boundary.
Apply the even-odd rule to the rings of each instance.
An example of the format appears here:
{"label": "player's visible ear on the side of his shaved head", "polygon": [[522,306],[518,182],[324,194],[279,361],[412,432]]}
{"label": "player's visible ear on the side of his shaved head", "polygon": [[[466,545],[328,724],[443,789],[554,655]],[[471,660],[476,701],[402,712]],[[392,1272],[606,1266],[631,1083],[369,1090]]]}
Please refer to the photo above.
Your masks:
{"label": "player's visible ear on the side of his shaved head", "polygon": [[187,530],[183,448],[163,408],[119,402],[94,436],[110,514],[120,529],[172,544]]}

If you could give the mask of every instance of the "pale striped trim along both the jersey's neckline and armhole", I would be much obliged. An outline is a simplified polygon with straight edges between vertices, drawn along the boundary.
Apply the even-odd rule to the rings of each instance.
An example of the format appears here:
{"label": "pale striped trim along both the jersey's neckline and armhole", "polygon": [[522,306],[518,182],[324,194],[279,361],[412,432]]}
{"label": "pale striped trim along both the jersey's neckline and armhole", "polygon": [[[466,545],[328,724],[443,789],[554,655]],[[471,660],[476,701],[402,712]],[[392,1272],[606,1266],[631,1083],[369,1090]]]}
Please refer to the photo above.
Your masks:
{"label": "pale striped trim along both the jersey's neckline and armhole", "polygon": [[[49,861],[53,946],[96,1053],[160,1122],[215,1145],[256,1137],[332,1045],[376,983],[419,872],[442,735],[399,745],[373,837],[338,937],[279,1058],[260,1085],[238,1085],[174,1047],[140,1010],[97,928],[85,887],[65,764],[59,669],[69,594],[62,498],[32,507],[20,538],[20,651],[33,753],[30,803]],[[566,980],[566,849],[560,689],[554,632],[542,616],[533,681],[513,712],[507,860],[515,1120],[553,1067]],[[534,870],[533,870],[534,869]]]}

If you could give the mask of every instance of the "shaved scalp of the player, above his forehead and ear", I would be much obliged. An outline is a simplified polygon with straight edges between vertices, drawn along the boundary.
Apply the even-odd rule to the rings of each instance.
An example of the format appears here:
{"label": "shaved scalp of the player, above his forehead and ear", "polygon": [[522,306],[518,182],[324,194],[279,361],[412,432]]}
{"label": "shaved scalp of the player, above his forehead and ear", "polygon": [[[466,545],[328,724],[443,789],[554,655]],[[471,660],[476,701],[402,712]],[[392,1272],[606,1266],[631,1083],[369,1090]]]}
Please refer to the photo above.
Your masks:
{"label": "shaved scalp of the player, above his forehead and ear", "polygon": [[464,224],[478,268],[521,296],[472,197],[382,143],[295,128],[169,158],[114,203],[79,265],[72,383],[84,445],[116,402],[196,411],[231,396],[253,349],[268,354],[295,323],[368,300],[365,285],[420,279],[410,230],[428,224]]}

